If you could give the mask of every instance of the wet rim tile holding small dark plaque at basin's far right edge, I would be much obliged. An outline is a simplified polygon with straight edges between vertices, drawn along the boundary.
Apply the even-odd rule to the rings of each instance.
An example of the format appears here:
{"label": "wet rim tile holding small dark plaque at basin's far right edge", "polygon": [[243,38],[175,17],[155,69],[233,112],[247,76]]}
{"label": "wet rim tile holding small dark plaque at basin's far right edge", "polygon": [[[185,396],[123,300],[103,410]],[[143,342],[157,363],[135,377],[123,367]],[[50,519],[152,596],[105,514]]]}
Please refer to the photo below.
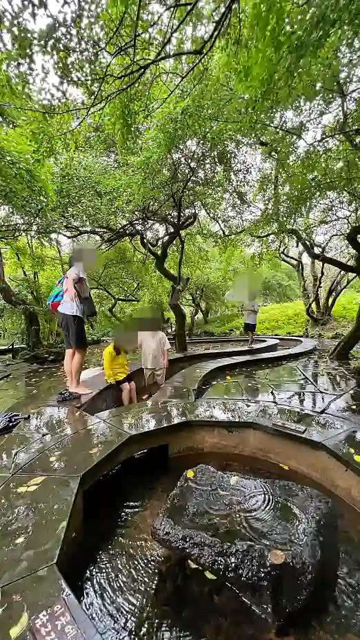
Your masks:
{"label": "wet rim tile holding small dark plaque at basin's far right edge", "polygon": [[300,411],[299,409],[270,404],[261,407],[257,414],[257,421],[264,424],[271,423],[272,426],[279,427],[279,429],[283,428],[285,431],[291,431],[291,429],[286,428],[287,425],[299,425],[306,429],[303,434],[300,431],[298,432],[301,437],[317,442],[326,440],[333,434],[346,431],[350,426],[347,420],[341,420],[341,418],[335,418],[327,414],[319,416],[309,411]]}

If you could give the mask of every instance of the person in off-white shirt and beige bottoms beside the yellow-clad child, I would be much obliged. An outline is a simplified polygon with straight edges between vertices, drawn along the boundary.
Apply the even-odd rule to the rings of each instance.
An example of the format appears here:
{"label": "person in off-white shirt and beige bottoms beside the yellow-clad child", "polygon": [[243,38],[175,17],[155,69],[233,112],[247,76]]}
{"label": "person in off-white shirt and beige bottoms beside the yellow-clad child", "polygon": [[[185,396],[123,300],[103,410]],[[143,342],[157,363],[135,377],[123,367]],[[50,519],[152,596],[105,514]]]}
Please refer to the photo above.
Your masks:
{"label": "person in off-white shirt and beige bottoms beside the yellow-clad child", "polygon": [[169,364],[168,351],[171,349],[165,333],[159,330],[139,331],[138,345],[146,386],[154,382],[159,386],[163,385]]}

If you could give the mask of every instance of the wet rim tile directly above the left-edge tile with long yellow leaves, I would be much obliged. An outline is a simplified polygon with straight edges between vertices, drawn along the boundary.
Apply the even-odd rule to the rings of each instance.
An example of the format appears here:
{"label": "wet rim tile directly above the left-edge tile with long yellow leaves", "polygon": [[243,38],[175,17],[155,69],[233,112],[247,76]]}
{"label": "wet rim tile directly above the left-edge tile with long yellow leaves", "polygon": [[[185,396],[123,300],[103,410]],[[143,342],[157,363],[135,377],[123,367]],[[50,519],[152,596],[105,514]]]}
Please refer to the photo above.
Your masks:
{"label": "wet rim tile directly above the left-edge tile with long yellow leaves", "polygon": [[79,476],[118,447],[128,434],[101,421],[61,440],[25,465],[21,474]]}

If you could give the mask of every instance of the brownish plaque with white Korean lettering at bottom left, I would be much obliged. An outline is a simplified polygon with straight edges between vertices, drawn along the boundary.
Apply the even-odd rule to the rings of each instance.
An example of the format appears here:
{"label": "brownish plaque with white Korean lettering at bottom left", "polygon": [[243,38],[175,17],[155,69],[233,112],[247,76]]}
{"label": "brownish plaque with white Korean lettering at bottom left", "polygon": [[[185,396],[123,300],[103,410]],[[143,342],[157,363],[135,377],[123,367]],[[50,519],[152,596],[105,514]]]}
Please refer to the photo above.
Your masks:
{"label": "brownish plaque with white Korean lettering at bottom left", "polygon": [[30,638],[32,640],[85,640],[68,605],[62,598],[50,609],[32,617]]}

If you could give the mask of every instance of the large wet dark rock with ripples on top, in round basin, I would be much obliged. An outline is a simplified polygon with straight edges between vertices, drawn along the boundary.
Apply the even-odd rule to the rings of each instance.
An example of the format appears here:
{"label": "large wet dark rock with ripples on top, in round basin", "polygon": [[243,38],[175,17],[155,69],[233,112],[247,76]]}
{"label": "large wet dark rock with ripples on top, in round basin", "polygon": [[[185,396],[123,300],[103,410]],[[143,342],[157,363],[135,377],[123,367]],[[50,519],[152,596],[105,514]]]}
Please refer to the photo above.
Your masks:
{"label": "large wet dark rock with ripples on top, in round basin", "polygon": [[284,628],[316,619],[334,599],[337,516],[315,489],[199,465],[181,476],[152,537]]}

